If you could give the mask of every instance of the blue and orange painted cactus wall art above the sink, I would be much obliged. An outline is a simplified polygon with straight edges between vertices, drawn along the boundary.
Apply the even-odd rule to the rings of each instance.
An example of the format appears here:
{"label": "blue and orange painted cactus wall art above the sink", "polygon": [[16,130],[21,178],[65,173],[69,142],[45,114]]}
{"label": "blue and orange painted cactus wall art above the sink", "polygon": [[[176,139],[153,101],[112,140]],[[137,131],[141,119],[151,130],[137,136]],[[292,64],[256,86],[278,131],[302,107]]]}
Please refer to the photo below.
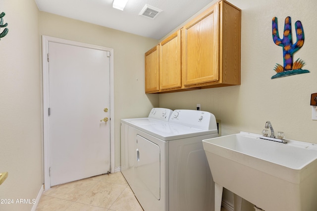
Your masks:
{"label": "blue and orange painted cactus wall art above the sink", "polygon": [[302,70],[304,66],[304,61],[297,59],[293,62],[293,54],[298,51],[304,45],[304,29],[301,21],[296,21],[296,42],[292,42],[292,27],[291,27],[291,17],[285,18],[283,39],[280,39],[277,27],[277,18],[272,19],[272,36],[273,42],[283,48],[283,61],[284,65],[276,64],[274,71],[277,73],[272,76],[271,79],[297,75],[302,73],[309,73],[308,70]]}

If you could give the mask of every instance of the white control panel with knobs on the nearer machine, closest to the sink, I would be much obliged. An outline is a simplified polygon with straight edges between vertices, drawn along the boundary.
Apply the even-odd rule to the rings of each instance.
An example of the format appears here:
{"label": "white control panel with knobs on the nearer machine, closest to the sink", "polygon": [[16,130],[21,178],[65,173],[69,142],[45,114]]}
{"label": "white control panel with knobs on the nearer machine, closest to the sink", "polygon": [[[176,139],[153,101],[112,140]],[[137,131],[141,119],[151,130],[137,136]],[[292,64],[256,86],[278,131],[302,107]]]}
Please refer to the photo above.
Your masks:
{"label": "white control panel with knobs on the nearer machine, closest to the sink", "polygon": [[168,122],[205,130],[217,129],[214,115],[207,111],[174,110]]}

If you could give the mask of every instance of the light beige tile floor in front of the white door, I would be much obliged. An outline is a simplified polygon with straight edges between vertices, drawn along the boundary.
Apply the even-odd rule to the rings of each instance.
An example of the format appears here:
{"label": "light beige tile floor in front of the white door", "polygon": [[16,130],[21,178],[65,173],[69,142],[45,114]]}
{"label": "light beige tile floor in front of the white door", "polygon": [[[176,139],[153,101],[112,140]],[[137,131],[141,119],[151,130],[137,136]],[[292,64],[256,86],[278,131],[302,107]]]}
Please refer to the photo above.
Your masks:
{"label": "light beige tile floor in front of the white door", "polygon": [[[36,211],[143,211],[121,172],[57,185]],[[221,211],[227,211],[221,207]]]}

